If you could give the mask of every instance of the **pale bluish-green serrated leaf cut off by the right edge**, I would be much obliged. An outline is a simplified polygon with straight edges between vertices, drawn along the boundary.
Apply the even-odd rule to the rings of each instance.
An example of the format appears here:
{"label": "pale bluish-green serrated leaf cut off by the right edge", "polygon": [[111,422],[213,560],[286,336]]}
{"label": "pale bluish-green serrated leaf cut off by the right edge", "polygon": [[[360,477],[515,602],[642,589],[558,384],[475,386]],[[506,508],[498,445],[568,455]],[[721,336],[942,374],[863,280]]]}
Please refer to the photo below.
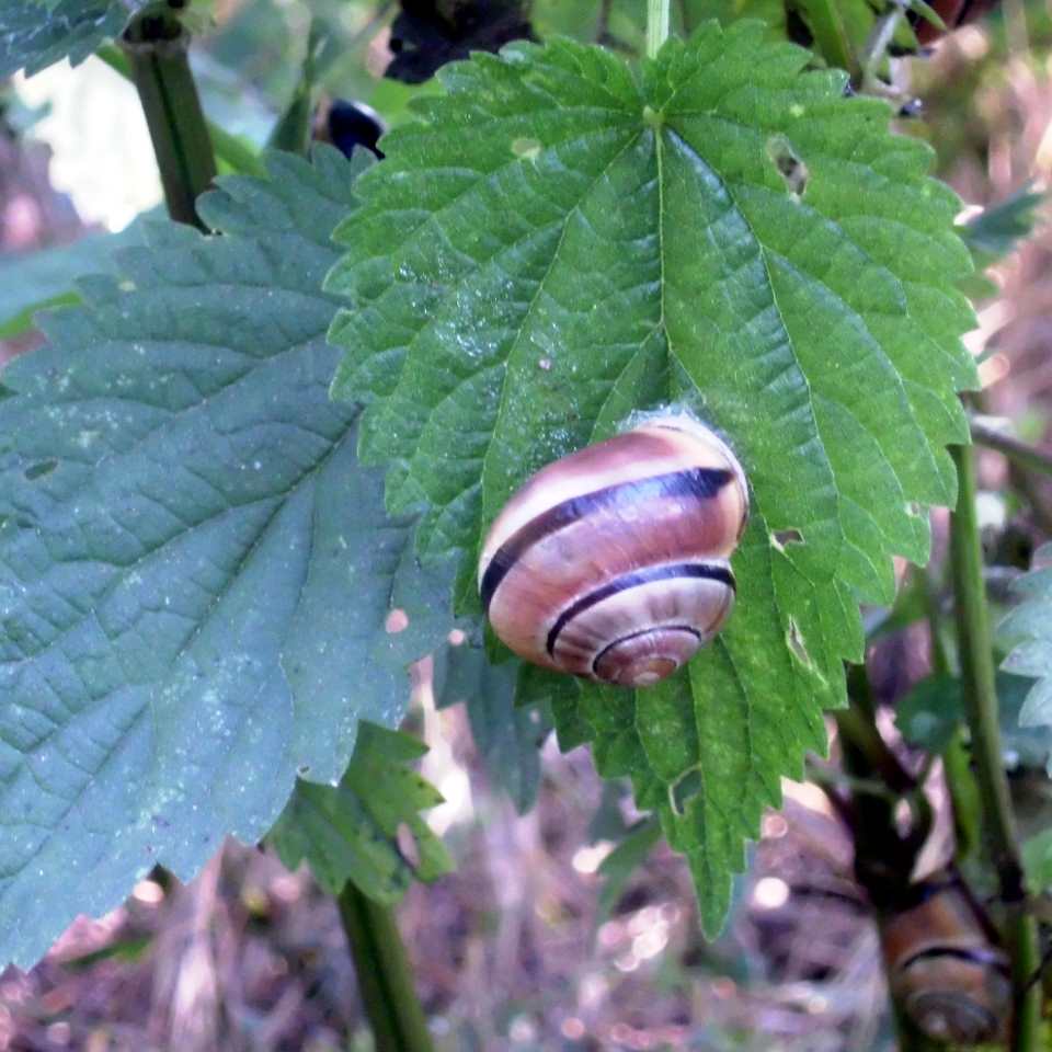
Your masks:
{"label": "pale bluish-green serrated leaf cut off by the right edge", "polygon": [[[1013,647],[1002,668],[1037,681],[1019,708],[1019,727],[1048,730],[1052,728],[1052,545],[1034,552],[1030,572],[1015,587],[1022,601],[998,627],[999,637]],[[1048,762],[1052,774],[1052,753]]]}

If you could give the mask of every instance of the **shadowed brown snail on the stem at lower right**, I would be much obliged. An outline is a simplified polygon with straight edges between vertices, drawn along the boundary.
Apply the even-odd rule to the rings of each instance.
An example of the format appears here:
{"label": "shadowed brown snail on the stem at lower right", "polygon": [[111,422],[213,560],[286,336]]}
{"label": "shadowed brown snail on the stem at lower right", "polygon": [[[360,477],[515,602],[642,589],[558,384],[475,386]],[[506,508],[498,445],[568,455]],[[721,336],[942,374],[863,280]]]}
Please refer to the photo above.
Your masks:
{"label": "shadowed brown snail on the stem at lower right", "polygon": [[1008,957],[956,872],[911,885],[905,908],[881,918],[880,941],[892,996],[928,1038],[982,1044],[1004,1037]]}

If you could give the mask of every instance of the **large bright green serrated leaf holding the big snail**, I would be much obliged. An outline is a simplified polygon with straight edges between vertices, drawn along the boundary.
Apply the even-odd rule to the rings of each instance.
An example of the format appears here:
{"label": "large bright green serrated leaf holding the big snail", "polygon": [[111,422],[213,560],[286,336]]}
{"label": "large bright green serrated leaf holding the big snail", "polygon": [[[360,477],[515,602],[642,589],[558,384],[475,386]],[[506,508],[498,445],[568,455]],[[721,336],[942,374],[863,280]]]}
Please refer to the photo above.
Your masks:
{"label": "large bright green serrated leaf holding the big snail", "polygon": [[930,151],[764,35],[710,23],[640,71],[565,41],[447,68],[361,180],[329,286],[354,304],[334,392],[370,392],[364,455],[395,513],[424,508],[423,553],[461,558],[466,609],[515,488],[633,410],[689,405],[736,450],[730,627],[673,682],[585,688],[569,735],[660,809],[709,931],[779,779],[825,747],[859,599],[928,557],[976,382]]}

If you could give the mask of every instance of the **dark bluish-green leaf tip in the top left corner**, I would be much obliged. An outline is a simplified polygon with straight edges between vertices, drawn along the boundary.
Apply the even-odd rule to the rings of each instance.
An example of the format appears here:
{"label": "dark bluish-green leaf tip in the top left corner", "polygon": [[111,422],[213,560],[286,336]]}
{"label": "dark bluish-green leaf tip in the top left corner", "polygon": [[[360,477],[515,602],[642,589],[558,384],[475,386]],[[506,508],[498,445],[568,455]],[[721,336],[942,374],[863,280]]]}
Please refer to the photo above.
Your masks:
{"label": "dark bluish-green leaf tip in the top left corner", "polygon": [[59,0],[42,13],[35,0],[0,4],[0,78],[39,72],[68,58],[78,66],[100,44],[119,36],[146,0]]}

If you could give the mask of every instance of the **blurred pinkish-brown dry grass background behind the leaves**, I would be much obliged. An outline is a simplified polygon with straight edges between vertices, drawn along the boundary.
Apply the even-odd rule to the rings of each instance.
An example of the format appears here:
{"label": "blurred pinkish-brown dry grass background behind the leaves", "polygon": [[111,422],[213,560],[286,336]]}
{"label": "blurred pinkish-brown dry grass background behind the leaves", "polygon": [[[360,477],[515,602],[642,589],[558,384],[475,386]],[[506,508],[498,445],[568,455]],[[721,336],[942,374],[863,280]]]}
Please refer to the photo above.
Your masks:
{"label": "blurred pinkish-brown dry grass background behind the leaves", "polygon": [[[1014,0],[1008,48],[970,27],[914,73],[940,173],[968,202],[1050,175],[1049,24],[1043,9],[1025,18]],[[7,251],[76,236],[46,161],[39,148],[0,139]],[[988,408],[1036,439],[1052,396],[1050,261],[1052,233],[1039,231],[999,267],[1002,295],[972,338],[987,355]],[[987,485],[1003,483],[995,455],[983,471]],[[924,672],[923,642],[896,639],[878,659],[884,698]],[[813,786],[787,786],[728,934],[708,946],[686,869],[664,848],[613,915],[597,915],[596,868],[609,844],[590,835],[603,787],[583,751],[546,746],[538,805],[518,817],[488,785],[462,712],[428,709],[422,722],[433,746],[426,774],[453,798],[439,819],[458,865],[412,888],[399,915],[441,1049],[891,1048],[850,843]],[[617,807],[631,819],[626,801]],[[145,880],[113,913],[78,921],[31,972],[0,976],[0,1052],[369,1048],[334,904],[306,872],[235,843],[192,883]]]}

